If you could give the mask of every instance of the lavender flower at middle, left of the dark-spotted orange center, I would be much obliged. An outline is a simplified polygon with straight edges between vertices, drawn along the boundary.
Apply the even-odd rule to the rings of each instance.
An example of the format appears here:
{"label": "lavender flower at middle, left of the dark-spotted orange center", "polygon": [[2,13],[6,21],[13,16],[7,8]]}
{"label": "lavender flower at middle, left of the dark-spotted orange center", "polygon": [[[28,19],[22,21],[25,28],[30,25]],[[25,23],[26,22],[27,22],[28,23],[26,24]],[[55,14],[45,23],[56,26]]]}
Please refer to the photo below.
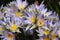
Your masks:
{"label": "lavender flower at middle, left of the dark-spotted orange center", "polygon": [[26,27],[26,30],[28,30],[31,27],[31,25],[35,24],[35,18],[36,18],[36,15],[34,13],[30,13],[30,12],[26,13],[25,17],[23,18],[23,24],[24,25],[28,24]]}

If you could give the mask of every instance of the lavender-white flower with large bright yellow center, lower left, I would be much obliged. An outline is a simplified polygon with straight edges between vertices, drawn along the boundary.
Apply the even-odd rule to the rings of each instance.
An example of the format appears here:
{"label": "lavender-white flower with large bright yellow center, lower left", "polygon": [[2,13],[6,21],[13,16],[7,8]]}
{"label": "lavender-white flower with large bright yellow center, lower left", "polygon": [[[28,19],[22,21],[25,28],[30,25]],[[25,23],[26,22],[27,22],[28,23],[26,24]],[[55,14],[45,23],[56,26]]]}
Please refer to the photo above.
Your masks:
{"label": "lavender-white flower with large bright yellow center, lower left", "polygon": [[6,23],[5,27],[6,27],[6,29],[10,30],[11,32],[20,32],[19,31],[19,27],[21,27],[20,25],[21,25],[20,23],[14,23],[14,22],[11,23],[10,22],[9,24]]}

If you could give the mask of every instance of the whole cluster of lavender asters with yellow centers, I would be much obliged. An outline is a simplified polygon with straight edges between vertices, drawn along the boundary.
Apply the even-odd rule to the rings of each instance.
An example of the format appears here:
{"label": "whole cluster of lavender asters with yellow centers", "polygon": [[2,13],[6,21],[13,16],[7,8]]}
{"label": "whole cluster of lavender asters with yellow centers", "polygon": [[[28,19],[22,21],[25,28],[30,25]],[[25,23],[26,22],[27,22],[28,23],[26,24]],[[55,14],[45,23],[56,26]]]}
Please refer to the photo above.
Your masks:
{"label": "whole cluster of lavender asters with yellow centers", "polygon": [[43,3],[28,6],[21,0],[10,2],[0,8],[0,38],[2,40],[15,40],[14,33],[35,30],[39,36],[37,40],[59,40],[60,20],[56,12],[48,10]]}

